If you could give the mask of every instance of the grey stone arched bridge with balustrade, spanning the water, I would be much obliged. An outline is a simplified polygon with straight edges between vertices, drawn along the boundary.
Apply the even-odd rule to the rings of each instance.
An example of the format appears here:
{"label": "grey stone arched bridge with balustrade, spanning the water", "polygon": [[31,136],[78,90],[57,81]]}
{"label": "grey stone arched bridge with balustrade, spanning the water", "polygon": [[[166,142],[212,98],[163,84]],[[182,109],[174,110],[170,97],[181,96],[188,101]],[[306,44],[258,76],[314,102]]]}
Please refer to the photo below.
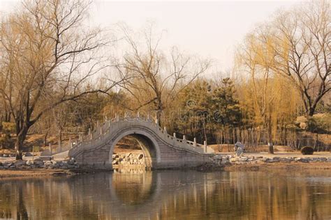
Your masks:
{"label": "grey stone arched bridge with balustrade, spanning the water", "polygon": [[188,141],[185,136],[177,139],[165,128],[149,117],[119,118],[106,120],[87,136],[73,144],[69,157],[82,167],[112,168],[112,152],[117,142],[124,136],[133,136],[144,152],[149,168],[183,168],[212,164],[214,150],[196,141]]}

